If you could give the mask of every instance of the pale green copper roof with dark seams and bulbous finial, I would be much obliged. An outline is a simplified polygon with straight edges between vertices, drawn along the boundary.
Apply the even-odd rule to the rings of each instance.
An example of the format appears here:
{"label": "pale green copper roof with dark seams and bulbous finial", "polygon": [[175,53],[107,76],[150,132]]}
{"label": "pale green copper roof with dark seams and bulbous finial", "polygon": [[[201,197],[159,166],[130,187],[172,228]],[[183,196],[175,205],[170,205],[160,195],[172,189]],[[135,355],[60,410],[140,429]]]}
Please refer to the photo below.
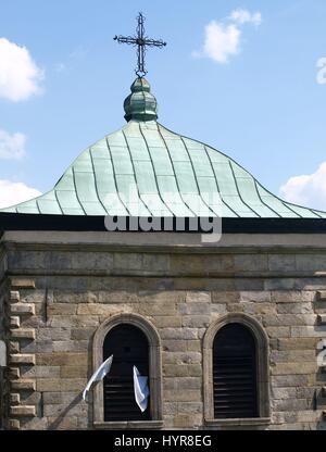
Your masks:
{"label": "pale green copper roof with dark seams and bulbous finial", "polygon": [[[156,120],[156,101],[136,79],[128,123],[87,148],[49,192],[1,212],[58,215],[326,218],[283,201],[234,160],[175,134]],[[131,196],[130,196],[131,193]]]}

